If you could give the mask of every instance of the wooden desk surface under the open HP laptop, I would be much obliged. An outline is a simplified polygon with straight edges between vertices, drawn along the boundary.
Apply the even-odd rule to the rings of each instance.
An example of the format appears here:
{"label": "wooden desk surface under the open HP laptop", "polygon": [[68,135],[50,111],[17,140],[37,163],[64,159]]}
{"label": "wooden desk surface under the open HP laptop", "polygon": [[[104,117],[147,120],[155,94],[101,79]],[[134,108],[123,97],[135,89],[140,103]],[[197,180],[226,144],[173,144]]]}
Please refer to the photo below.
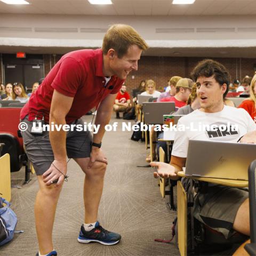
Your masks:
{"label": "wooden desk surface under the open HP laptop", "polygon": [[193,179],[193,180],[215,183],[215,184],[218,184],[218,185],[223,185],[223,186],[228,186],[228,187],[236,187],[236,188],[248,187],[248,181],[247,180],[228,180],[228,179],[205,178],[205,177],[196,178],[196,177],[186,176],[183,171],[178,172],[178,175],[180,177],[186,177],[186,178],[190,178],[190,179]]}

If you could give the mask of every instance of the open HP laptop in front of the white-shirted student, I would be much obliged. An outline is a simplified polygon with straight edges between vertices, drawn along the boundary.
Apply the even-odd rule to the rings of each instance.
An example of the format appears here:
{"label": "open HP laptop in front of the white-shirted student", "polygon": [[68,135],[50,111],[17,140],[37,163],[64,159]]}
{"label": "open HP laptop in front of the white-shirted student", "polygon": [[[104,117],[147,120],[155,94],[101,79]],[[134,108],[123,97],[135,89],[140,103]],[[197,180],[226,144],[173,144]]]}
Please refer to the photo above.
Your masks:
{"label": "open HP laptop in front of the white-shirted student", "polygon": [[189,140],[185,173],[192,177],[248,180],[256,144]]}

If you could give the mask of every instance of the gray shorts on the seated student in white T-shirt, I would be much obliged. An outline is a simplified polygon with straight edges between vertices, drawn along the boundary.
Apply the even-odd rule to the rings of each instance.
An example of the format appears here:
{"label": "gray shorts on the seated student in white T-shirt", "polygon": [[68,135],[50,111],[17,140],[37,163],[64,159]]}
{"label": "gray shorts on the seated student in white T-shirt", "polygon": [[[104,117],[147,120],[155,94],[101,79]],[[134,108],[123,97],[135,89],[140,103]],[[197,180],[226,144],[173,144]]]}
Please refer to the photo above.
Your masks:
{"label": "gray shorts on the seated student in white T-shirt", "polygon": [[248,198],[248,192],[226,186],[209,186],[206,194],[197,194],[194,202],[194,217],[212,229],[230,238],[236,213]]}

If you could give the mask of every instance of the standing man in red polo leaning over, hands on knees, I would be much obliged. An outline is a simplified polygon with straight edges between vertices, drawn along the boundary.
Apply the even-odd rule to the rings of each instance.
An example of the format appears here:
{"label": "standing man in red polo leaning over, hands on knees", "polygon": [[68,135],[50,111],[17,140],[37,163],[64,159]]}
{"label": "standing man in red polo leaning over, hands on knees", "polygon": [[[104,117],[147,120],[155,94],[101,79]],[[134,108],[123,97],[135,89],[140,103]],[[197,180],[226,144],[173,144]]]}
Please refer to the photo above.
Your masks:
{"label": "standing man in red polo leaning over, hands on knees", "polygon": [[[67,174],[67,157],[73,158],[86,174],[85,217],[78,242],[113,245],[120,241],[119,234],[105,230],[97,221],[107,165],[100,147],[116,93],[130,71],[138,69],[140,55],[147,48],[132,27],[113,25],[103,39],[102,49],[63,55],[23,107],[21,120],[28,129],[22,132],[22,137],[39,182],[35,202],[37,255],[57,255],[53,250],[52,229]],[[71,127],[82,125],[80,118],[93,107],[97,107],[98,132],[91,138],[89,131],[73,131]],[[65,126],[60,131],[47,132],[38,129],[43,122]],[[65,131],[65,127],[70,127],[70,131]]]}

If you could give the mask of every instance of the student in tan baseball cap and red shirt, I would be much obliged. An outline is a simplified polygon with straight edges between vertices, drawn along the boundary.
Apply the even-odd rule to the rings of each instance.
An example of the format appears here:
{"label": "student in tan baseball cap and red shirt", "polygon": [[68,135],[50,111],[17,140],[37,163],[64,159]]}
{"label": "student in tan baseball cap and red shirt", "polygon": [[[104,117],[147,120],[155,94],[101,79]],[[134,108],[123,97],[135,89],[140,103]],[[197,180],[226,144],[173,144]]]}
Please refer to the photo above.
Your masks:
{"label": "student in tan baseball cap and red shirt", "polygon": [[193,85],[193,80],[189,78],[181,78],[176,85],[176,94],[172,97],[164,98],[160,100],[160,102],[175,102],[176,109],[185,106]]}

